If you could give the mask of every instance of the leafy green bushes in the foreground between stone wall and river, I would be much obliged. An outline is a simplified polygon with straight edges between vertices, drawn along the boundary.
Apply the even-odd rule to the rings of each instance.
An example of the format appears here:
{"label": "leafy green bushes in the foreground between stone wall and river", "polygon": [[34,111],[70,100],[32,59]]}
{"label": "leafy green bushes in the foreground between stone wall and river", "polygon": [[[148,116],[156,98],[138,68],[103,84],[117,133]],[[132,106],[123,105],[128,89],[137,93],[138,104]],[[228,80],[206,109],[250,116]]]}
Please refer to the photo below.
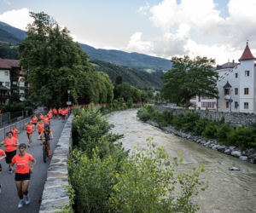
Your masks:
{"label": "leafy green bushes in the foreground between stone wall and river", "polygon": [[73,114],[73,152],[68,161],[67,188],[74,212],[200,209],[193,201],[208,187],[207,182],[199,180],[204,165],[179,174],[176,168],[183,162],[180,154],[171,159],[164,147],[154,145],[153,138],[147,139],[147,148],[126,151],[118,142],[123,135],[109,132],[113,125],[102,118],[100,107],[91,104],[86,109],[75,108]]}

